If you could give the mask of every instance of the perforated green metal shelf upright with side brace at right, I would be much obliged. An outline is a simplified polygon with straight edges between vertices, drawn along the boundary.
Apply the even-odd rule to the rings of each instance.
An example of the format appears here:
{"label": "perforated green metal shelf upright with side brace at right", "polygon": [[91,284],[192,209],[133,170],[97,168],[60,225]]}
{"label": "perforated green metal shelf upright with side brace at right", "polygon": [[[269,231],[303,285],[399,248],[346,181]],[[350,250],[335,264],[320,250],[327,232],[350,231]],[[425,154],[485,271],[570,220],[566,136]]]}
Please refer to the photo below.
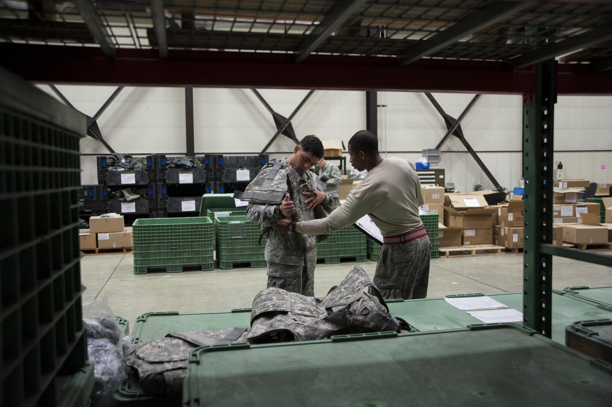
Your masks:
{"label": "perforated green metal shelf upright with side brace at right", "polygon": [[553,255],[605,266],[612,266],[612,257],[552,244],[556,62],[536,67],[534,92],[523,95],[523,325],[550,338]]}

